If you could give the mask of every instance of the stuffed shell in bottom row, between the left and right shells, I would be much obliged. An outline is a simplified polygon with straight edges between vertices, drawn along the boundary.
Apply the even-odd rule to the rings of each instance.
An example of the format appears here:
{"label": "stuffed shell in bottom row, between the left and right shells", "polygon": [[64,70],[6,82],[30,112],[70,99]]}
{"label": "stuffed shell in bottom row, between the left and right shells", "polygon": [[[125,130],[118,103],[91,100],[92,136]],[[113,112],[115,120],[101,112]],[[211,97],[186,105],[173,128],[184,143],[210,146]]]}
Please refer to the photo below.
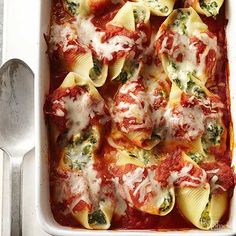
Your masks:
{"label": "stuffed shell in bottom row, between the left and right shells", "polygon": [[[118,147],[117,140],[111,145]],[[117,195],[129,207],[160,216],[171,212],[175,204],[174,188],[173,185],[162,186],[158,182],[156,155],[131,146],[129,149],[112,149],[105,156],[110,162],[109,171],[113,176]],[[115,213],[122,215],[119,209]]]}

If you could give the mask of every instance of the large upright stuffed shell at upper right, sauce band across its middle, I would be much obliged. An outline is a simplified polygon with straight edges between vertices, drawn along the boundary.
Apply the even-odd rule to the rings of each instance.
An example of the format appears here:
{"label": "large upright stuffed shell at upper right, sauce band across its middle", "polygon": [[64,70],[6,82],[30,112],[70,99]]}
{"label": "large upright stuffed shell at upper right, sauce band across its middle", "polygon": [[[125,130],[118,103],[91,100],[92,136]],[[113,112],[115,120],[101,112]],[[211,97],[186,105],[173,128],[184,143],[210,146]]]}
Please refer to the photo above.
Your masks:
{"label": "large upright stuffed shell at upper right, sauce band across its middle", "polygon": [[193,8],[171,13],[159,29],[156,49],[169,78],[181,90],[187,90],[193,76],[205,84],[214,74],[217,38]]}

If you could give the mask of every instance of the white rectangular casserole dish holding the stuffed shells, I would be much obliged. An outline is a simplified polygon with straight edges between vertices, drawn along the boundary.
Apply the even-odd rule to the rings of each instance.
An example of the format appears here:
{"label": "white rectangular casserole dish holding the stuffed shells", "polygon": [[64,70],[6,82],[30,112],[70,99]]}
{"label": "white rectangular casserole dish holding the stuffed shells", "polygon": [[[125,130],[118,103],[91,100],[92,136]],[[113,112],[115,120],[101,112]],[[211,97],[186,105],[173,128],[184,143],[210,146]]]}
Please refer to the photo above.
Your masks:
{"label": "white rectangular casserole dish holding the stuffed shells", "polygon": [[[227,28],[227,40],[228,40],[228,58],[230,65],[230,93],[231,93],[231,112],[233,123],[236,124],[236,14],[235,0],[225,0],[227,2],[227,17],[229,24]],[[50,1],[41,0],[41,30],[39,32],[40,44],[39,44],[39,73],[36,74],[35,83],[35,117],[36,117],[36,212],[38,219],[43,229],[52,235],[60,236],[72,236],[72,235],[152,235],[162,233],[165,235],[180,235],[183,231],[170,231],[170,232],[157,232],[151,230],[107,230],[96,231],[86,229],[74,229],[70,227],[64,227],[59,225],[53,218],[50,207],[49,196],[49,177],[48,177],[48,144],[47,144],[47,128],[45,126],[43,105],[45,96],[48,93],[49,88],[49,61],[46,52],[46,43],[43,34],[48,32],[50,23]],[[234,140],[236,140],[236,128],[234,132]],[[232,137],[233,139],[233,137]],[[236,164],[236,146],[234,146],[233,165]],[[234,197],[232,199],[230,209],[230,219],[224,229],[216,231],[201,231],[201,230],[189,230],[185,233],[193,233],[197,235],[215,235],[216,233],[221,235],[232,235],[236,233],[236,189]],[[178,219],[176,219],[178,220]]]}

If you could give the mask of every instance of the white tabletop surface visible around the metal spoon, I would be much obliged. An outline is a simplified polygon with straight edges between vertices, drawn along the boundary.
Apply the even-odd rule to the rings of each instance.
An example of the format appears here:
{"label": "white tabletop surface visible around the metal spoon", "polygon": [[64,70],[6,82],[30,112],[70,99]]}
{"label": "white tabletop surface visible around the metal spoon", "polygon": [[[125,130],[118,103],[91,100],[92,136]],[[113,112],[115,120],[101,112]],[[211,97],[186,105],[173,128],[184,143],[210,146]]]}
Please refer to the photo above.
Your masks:
{"label": "white tabletop surface visible around the metal spoon", "polygon": [[[45,0],[46,1],[46,0]],[[47,0],[50,1],[50,0]],[[39,32],[39,0],[5,0],[4,1],[4,32],[3,32],[3,62],[11,58],[24,60],[35,72],[37,69],[37,49]],[[26,91],[27,92],[27,91]],[[0,173],[2,173],[2,158],[0,151]],[[23,236],[47,236],[41,229],[35,214],[35,160],[34,152],[29,153],[23,165]],[[4,161],[4,183],[8,192],[8,162]],[[0,175],[0,190],[1,190]],[[0,191],[1,193],[2,191]],[[8,207],[7,192],[4,194],[3,208]],[[0,194],[1,195],[1,194]],[[0,196],[1,202],[1,196]],[[0,205],[1,208],[1,205]],[[3,210],[4,210],[3,209]],[[3,234],[8,236],[8,215],[3,212]],[[1,216],[0,216],[1,219]],[[1,232],[1,231],[0,231]]]}

